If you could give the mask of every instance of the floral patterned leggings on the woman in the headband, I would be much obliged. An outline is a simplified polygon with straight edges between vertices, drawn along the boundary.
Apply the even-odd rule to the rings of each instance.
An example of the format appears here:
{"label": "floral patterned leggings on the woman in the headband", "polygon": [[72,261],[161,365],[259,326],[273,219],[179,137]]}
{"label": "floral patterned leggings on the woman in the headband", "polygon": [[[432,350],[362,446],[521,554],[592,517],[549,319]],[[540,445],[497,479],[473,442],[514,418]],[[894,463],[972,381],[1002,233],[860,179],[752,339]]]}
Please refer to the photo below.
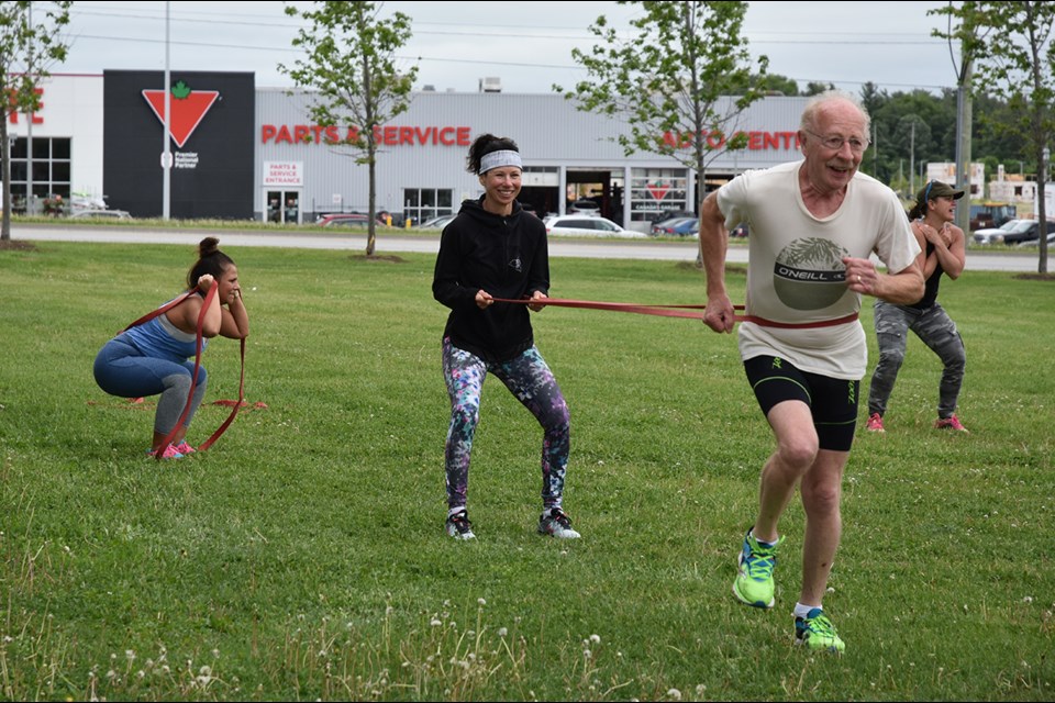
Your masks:
{"label": "floral patterned leggings on the woman in the headband", "polygon": [[571,429],[568,405],[538,349],[532,346],[513,359],[489,364],[443,341],[443,378],[451,395],[451,427],[444,449],[447,505],[464,507],[469,483],[473,436],[480,420],[480,392],[490,371],[531,411],[543,428],[543,509],[559,507],[568,467]]}

